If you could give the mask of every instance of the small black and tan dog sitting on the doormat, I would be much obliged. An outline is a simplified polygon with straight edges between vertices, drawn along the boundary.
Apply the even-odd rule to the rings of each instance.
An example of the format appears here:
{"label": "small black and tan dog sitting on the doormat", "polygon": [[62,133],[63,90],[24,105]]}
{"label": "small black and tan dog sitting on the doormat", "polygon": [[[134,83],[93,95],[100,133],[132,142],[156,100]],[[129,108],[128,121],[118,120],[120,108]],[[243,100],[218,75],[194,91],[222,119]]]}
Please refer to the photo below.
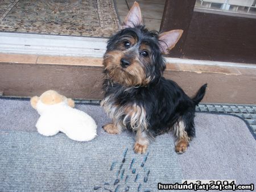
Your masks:
{"label": "small black and tan dog sitting on the doormat", "polygon": [[108,41],[101,106],[113,123],[103,128],[113,134],[124,129],[135,131],[137,153],[146,152],[155,136],[173,131],[175,150],[183,153],[195,136],[195,106],[203,99],[207,85],[189,98],[174,81],[162,77],[166,68],[163,55],[175,46],[183,31],[158,34],[141,22],[141,10],[135,2],[123,29]]}

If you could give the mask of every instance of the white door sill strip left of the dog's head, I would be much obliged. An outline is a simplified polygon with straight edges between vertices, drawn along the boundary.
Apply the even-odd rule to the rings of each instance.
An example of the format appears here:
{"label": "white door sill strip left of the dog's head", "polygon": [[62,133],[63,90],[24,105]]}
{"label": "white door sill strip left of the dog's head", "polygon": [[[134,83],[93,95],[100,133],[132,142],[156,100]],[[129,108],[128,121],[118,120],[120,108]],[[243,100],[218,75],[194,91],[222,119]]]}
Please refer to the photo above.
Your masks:
{"label": "white door sill strip left of the dog's head", "polygon": [[33,55],[93,56],[102,57],[108,39],[0,33],[0,52]]}

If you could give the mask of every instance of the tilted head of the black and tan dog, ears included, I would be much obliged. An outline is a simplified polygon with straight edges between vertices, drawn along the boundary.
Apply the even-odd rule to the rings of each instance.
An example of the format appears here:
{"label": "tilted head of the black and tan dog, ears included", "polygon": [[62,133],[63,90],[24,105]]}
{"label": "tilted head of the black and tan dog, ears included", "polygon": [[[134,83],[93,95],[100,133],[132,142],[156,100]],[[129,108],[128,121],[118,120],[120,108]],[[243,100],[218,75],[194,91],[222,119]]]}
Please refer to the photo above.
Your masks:
{"label": "tilted head of the black and tan dog, ears included", "polygon": [[128,12],[123,29],[110,37],[104,55],[105,73],[123,86],[147,86],[157,82],[166,64],[163,55],[174,48],[183,30],[158,34],[148,31],[142,23],[137,2]]}

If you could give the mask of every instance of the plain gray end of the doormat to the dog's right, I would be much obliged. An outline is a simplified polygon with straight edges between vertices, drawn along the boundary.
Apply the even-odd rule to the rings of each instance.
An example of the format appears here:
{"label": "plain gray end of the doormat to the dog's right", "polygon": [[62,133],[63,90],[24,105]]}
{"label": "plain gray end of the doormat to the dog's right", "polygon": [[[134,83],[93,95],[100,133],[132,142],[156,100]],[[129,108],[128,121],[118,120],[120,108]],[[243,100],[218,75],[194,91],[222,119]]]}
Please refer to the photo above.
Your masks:
{"label": "plain gray end of the doormat to the dog's right", "polygon": [[196,113],[196,138],[179,156],[185,179],[256,183],[256,140],[234,115]]}

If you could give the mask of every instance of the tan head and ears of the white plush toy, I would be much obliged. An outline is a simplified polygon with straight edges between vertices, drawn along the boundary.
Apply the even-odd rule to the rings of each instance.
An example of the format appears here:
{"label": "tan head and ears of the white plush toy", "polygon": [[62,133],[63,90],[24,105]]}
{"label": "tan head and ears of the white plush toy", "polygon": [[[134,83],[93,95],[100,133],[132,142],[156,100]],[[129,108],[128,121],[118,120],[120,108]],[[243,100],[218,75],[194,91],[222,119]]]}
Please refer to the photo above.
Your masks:
{"label": "tan head and ears of the white plush toy", "polygon": [[44,105],[55,105],[57,103],[67,101],[69,106],[75,107],[75,102],[72,99],[67,99],[67,97],[57,93],[57,91],[54,90],[48,90],[44,92],[40,97],[32,97],[30,99],[31,106],[37,109],[36,104],[38,101],[41,101]]}

